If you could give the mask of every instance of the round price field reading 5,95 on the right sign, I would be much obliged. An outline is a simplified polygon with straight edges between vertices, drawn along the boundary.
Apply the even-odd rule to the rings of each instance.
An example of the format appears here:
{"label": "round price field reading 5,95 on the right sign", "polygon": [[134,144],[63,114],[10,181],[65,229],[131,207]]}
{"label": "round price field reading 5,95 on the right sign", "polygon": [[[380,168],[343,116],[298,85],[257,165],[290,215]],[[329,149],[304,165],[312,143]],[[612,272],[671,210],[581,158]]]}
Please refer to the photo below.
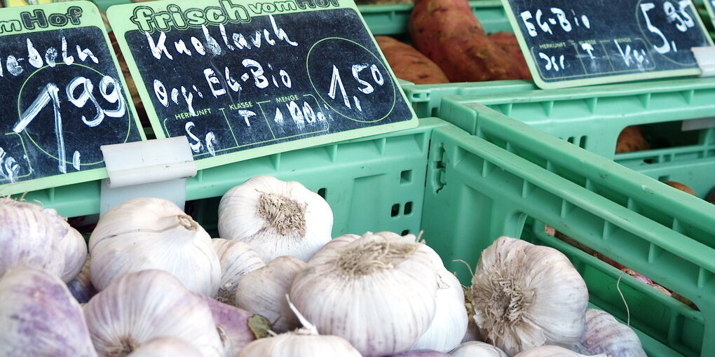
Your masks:
{"label": "round price field reading 5,95 on the right sign", "polygon": [[[674,40],[667,38],[665,36],[665,34],[663,34],[663,32],[661,31],[661,26],[659,26],[659,25],[661,25],[661,22],[662,22],[662,24],[666,24],[667,26],[675,26],[675,25],[669,21],[655,21],[656,19],[659,19],[659,14],[662,14],[662,11],[664,11],[663,6],[665,4],[665,1],[661,1],[660,7],[656,5],[650,11],[646,11],[648,14],[651,15],[649,21],[651,21],[651,25],[654,26],[654,29],[652,31],[648,29],[648,24],[645,23],[645,20],[644,20],[645,15],[643,14],[643,10],[641,10],[641,4],[644,1],[653,3],[654,5],[656,5],[656,3],[658,3],[659,1],[639,0],[638,4],[636,4],[636,21],[638,21],[638,29],[641,30],[641,34],[643,34],[643,37],[646,40],[646,44],[649,44],[649,46],[651,46],[651,49],[655,50],[656,47],[658,47],[658,46],[664,46],[664,44],[665,44],[664,39],[665,39],[666,41],[668,41],[667,42],[668,46],[672,46],[671,41],[674,41]],[[666,1],[668,1],[668,0],[666,0]],[[672,1],[671,1],[671,4],[672,4]],[[677,1],[676,1],[676,4],[674,4],[674,6],[678,6]],[[676,11],[677,11],[677,9],[676,9]],[[697,14],[694,15],[694,14],[690,13],[690,6],[688,6],[686,8],[686,11],[688,11],[688,15],[691,16],[692,20],[695,21],[695,18],[693,16],[698,16],[698,15]],[[694,29],[694,31],[698,31],[697,26],[695,26],[693,29]],[[677,44],[677,41],[676,41],[676,44]],[[700,45],[694,45],[694,46],[700,46]],[[673,49],[671,48],[671,50],[669,52],[667,52],[666,54],[661,54],[658,51],[656,51],[656,53],[660,54],[661,56],[664,56],[665,59],[667,59],[668,61],[671,61],[675,64],[679,64],[681,66],[691,66],[691,65],[696,64],[694,57],[684,55],[684,51],[689,51],[690,47],[691,46],[683,46],[682,49],[678,48],[678,51],[673,51]],[[683,51],[681,51],[681,50],[683,50]]]}

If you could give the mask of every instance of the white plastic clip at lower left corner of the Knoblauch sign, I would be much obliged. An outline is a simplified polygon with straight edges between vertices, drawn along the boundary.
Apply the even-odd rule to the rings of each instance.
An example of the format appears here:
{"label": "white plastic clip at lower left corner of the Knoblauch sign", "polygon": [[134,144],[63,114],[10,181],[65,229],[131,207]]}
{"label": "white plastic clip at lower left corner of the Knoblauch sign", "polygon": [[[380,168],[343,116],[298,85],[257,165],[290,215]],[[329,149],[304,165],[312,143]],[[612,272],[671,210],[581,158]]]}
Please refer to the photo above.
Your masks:
{"label": "white plastic clip at lower left corner of the Knoblauch sign", "polygon": [[184,208],[186,178],[197,168],[186,136],[103,145],[109,178],[102,181],[99,214],[135,197],[159,197]]}

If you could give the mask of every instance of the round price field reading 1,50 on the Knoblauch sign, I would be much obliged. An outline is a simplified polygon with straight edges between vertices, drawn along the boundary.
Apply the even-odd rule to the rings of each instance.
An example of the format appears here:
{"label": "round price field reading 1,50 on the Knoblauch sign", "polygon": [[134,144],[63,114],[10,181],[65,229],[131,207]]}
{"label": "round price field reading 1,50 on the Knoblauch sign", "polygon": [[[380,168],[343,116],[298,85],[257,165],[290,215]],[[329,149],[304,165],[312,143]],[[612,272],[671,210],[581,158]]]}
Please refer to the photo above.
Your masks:
{"label": "round price field reading 1,50 on the Knoblauch sign", "polygon": [[[397,89],[390,71],[365,46],[328,37],[310,47],[305,63],[310,85],[337,114],[352,121],[375,123],[395,109]],[[357,73],[354,66],[360,69]]]}

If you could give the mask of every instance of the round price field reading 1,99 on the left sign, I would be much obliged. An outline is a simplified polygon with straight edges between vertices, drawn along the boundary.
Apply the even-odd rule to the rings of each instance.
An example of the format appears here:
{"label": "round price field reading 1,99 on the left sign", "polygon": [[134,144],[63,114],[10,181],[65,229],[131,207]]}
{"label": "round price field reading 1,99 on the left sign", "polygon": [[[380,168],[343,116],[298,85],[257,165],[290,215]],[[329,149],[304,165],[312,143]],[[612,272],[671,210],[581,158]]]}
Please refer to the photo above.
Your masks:
{"label": "round price field reading 1,99 on the left sign", "polygon": [[[51,71],[52,69],[61,69],[60,76],[46,74],[47,71]],[[78,76],[83,76],[92,81],[92,84],[94,85],[92,95],[99,103],[99,106],[103,106],[105,108],[108,105],[112,107],[117,106],[117,104],[108,104],[107,101],[102,98],[102,94],[99,93],[99,81],[104,76],[102,72],[92,69],[91,67],[84,66],[83,64],[70,64],[67,66],[62,62],[58,62],[54,68],[51,66],[44,66],[37,69],[27,77],[24,84],[22,84],[20,93],[17,97],[17,117],[18,120],[22,117],[23,112],[35,101],[49,82],[55,82],[56,86],[59,87],[58,96],[62,135],[65,147],[65,157],[62,160],[65,164],[72,164],[72,160],[68,161],[67,157],[69,156],[72,158],[75,152],[79,152],[82,156],[82,162],[79,165],[93,166],[101,164],[102,161],[104,161],[99,146],[109,142],[126,142],[129,139],[132,121],[127,119],[127,116],[130,113],[129,107],[127,106],[127,114],[124,114],[122,118],[110,118],[108,116],[104,116],[102,123],[94,128],[89,128],[87,124],[84,124],[82,116],[85,116],[88,120],[90,120],[97,114],[97,111],[94,108],[92,100],[87,100],[84,107],[77,108],[77,106],[71,104],[67,98],[66,87],[69,85],[69,81],[71,81],[71,79],[77,78]],[[81,90],[84,90],[84,86],[79,86],[74,90],[75,97],[77,97],[77,93]],[[126,101],[124,89],[122,89],[119,93],[119,96],[122,97],[121,100]],[[53,106],[53,101],[50,101],[49,104],[44,106],[44,108],[41,109],[40,114],[38,114],[38,116],[34,118],[26,127],[24,133],[27,135],[31,143],[36,146],[37,149],[42,151],[42,153],[52,159],[59,160],[56,154],[58,151]],[[68,108],[71,110],[68,110]],[[74,111],[74,113],[71,113],[71,111]],[[71,115],[67,115],[68,113],[71,113]],[[117,123],[117,121],[126,122],[126,131],[115,131],[116,125],[112,123]],[[32,132],[40,132],[44,133],[44,135],[35,138],[31,134]],[[114,136],[115,139],[110,139],[111,136]],[[94,142],[97,143],[94,144],[94,147],[87,147],[87,143]]]}

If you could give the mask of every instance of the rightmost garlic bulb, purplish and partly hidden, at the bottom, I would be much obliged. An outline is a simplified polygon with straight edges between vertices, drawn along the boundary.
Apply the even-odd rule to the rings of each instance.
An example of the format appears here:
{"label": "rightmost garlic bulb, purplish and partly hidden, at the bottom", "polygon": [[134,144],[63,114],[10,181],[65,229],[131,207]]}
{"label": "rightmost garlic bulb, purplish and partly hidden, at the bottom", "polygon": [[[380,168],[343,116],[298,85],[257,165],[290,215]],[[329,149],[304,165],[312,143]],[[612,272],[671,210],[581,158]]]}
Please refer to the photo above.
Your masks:
{"label": "rightmost garlic bulb, purplish and partly hidden, at the bottom", "polygon": [[586,331],[573,351],[586,355],[606,353],[610,357],[646,357],[641,340],[630,327],[595,308],[586,309]]}

